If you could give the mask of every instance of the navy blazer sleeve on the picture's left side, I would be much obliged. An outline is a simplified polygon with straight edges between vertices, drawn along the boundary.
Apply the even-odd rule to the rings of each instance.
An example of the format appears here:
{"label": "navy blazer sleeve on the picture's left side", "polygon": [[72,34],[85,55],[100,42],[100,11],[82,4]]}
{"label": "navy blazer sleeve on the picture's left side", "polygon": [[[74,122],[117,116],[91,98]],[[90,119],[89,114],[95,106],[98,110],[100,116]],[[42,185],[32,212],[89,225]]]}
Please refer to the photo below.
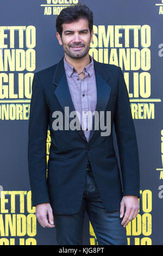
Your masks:
{"label": "navy blazer sleeve on the picture's left side", "polygon": [[35,73],[32,83],[32,98],[28,126],[28,171],[32,191],[32,205],[49,203],[46,169],[46,141],[48,130],[48,107]]}

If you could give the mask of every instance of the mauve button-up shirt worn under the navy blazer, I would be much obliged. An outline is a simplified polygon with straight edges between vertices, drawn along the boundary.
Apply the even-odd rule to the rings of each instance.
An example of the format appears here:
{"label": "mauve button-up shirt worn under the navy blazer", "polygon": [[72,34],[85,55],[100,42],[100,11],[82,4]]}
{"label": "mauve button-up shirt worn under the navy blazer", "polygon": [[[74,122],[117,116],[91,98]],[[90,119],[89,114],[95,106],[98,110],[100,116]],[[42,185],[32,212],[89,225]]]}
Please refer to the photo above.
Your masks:
{"label": "mauve button-up shirt worn under the navy blazer", "polygon": [[78,76],[78,72],[72,65],[70,65],[64,57],[64,68],[70,90],[72,102],[75,111],[77,111],[78,119],[84,135],[89,141],[90,130],[92,127],[93,112],[96,109],[97,103],[97,88],[96,88],[96,76],[93,65],[93,58],[90,56],[91,63],[89,63],[83,69],[85,74],[81,80]]}

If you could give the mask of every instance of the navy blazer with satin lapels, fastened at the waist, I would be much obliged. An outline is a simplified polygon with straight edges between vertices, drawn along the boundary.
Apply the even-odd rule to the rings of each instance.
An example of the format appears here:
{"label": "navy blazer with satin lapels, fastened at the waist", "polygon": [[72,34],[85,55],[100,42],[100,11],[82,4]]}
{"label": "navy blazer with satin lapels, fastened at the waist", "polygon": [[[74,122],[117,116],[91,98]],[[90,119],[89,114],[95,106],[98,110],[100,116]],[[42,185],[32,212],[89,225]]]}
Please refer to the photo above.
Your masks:
{"label": "navy blazer with satin lapels, fastened at the waist", "polygon": [[[93,59],[97,84],[96,111],[111,111],[111,133],[101,136],[94,118],[89,141],[80,130],[53,130],[54,111],[75,111],[68,89],[64,57],[59,63],[35,72],[28,129],[28,166],[33,206],[51,203],[55,214],[76,214],[82,203],[87,159],[99,195],[108,211],[120,209],[122,196],[140,196],[139,154],[128,90],[120,67]],[[70,118],[71,121],[73,118]],[[115,125],[122,173],[113,145]],[[51,147],[47,166],[47,130]],[[46,169],[48,173],[46,175]],[[123,190],[122,190],[123,187]]]}

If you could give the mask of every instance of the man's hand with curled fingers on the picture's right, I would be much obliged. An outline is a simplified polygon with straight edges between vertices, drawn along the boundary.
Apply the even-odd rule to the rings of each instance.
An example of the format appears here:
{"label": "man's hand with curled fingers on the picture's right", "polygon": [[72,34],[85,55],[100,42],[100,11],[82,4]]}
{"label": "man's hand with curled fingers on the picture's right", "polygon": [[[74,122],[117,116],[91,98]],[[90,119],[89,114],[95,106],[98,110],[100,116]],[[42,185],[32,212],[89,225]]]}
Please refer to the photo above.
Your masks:
{"label": "man's hand with curled fingers on the picture's right", "polygon": [[[126,208],[124,214],[124,208]],[[126,225],[137,216],[139,212],[139,198],[135,196],[124,196],[121,201],[120,218],[123,216],[121,224],[125,228]]]}

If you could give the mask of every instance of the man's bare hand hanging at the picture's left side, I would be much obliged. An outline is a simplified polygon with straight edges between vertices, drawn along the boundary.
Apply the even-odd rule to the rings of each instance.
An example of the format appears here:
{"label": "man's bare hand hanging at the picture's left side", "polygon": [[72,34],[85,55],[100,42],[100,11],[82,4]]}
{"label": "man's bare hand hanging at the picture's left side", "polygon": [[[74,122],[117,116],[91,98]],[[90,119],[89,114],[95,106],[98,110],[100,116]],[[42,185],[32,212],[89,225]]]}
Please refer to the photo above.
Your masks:
{"label": "man's bare hand hanging at the picture's left side", "polygon": [[[47,219],[47,214],[48,214],[48,219]],[[55,227],[53,211],[49,203],[36,205],[36,218],[43,228]]]}

